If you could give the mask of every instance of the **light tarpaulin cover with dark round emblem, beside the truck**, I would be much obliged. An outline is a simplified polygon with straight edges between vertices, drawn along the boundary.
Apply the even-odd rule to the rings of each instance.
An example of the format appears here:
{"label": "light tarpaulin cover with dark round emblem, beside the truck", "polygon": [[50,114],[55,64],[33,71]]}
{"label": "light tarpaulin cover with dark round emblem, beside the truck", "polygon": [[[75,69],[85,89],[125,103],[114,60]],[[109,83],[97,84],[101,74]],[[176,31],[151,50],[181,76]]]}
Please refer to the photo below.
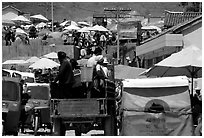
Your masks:
{"label": "light tarpaulin cover with dark round emblem, beside the truck", "polygon": [[[168,77],[169,78],[169,77]],[[124,84],[122,93],[122,131],[124,136],[191,136],[191,116],[188,85],[184,78],[151,78],[151,87]],[[161,79],[161,80],[159,80]],[[180,80],[179,80],[180,79]],[[135,79],[136,80],[136,79]],[[137,79],[135,82],[146,79]],[[175,80],[172,86],[170,82]],[[178,81],[178,86],[175,82]],[[183,82],[182,82],[183,80]],[[129,80],[130,81],[130,80]],[[160,87],[156,85],[160,84]],[[130,82],[132,83],[132,82]],[[183,86],[181,84],[183,83]]]}

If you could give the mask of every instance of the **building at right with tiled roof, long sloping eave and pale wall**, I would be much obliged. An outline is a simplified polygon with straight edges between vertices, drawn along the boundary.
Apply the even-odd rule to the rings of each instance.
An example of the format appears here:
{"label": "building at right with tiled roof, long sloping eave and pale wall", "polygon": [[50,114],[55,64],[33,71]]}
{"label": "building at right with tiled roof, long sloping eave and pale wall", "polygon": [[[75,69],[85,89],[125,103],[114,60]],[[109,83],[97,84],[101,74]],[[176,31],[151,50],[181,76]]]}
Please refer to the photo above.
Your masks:
{"label": "building at right with tiled roof, long sloping eave and pale wall", "polygon": [[202,49],[202,13],[168,12],[164,27],[165,31],[136,47],[136,55],[145,68],[191,44]]}

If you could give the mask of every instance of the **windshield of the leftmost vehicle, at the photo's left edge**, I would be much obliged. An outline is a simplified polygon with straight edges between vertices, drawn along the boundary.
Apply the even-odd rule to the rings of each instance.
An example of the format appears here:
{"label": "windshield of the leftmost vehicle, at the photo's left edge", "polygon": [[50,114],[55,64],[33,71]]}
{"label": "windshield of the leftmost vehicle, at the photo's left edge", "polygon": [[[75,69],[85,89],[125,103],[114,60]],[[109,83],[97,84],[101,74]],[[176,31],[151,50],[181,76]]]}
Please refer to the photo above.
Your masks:
{"label": "windshield of the leftmost vehicle, at the photo's left edge", "polygon": [[15,82],[2,82],[2,99],[9,101],[16,101],[19,99],[19,87]]}

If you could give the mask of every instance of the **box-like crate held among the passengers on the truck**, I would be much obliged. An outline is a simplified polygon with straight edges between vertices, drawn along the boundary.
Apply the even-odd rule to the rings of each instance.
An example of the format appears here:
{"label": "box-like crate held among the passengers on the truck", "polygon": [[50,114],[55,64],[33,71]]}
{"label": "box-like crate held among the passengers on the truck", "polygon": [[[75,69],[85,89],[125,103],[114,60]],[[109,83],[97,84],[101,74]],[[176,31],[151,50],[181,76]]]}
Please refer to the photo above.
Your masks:
{"label": "box-like crate held among the passengers on the truck", "polygon": [[93,67],[81,67],[81,82],[91,82]]}

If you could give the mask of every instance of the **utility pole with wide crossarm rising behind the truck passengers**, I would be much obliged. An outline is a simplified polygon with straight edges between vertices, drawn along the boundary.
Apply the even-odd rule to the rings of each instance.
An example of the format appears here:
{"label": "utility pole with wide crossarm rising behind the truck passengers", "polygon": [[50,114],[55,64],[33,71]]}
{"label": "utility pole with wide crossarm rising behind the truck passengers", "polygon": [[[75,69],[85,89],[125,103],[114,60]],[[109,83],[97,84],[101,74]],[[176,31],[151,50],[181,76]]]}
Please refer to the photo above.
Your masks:
{"label": "utility pole with wide crossarm rising behind the truck passengers", "polygon": [[117,21],[117,64],[118,64],[118,61],[120,59],[120,44],[119,44],[119,18],[121,18],[120,15],[124,15],[126,14],[127,12],[130,12],[131,9],[130,8],[127,8],[127,9],[124,9],[124,8],[111,8],[111,9],[108,9],[108,8],[104,8],[104,11],[108,11],[108,12],[111,12],[113,14],[115,14],[116,16],[116,21]]}

